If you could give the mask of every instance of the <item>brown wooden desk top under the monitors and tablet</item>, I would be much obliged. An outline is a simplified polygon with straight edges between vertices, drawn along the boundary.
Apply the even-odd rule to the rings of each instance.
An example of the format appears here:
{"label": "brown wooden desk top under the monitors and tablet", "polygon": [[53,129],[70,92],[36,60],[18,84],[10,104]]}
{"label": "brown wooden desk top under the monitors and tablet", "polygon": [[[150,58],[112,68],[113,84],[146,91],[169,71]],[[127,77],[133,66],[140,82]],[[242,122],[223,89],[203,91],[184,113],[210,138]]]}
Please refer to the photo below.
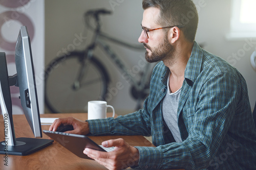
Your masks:
{"label": "brown wooden desk top under the monitors and tablet", "polygon": [[[87,119],[85,113],[72,113],[72,114],[41,114],[41,117],[68,117],[73,116],[81,120]],[[0,136],[3,139],[3,116],[0,116]],[[16,138],[18,137],[31,137],[34,135],[27,123],[25,115],[14,115],[14,129]],[[49,130],[49,125],[42,125],[42,130]],[[0,138],[0,141],[2,141]],[[49,137],[42,134],[42,138],[48,139]],[[102,141],[108,139],[123,138],[127,143],[133,146],[154,147],[154,145],[145,139],[143,136],[90,136],[96,143],[101,144]],[[26,156],[8,155],[8,167],[4,165],[4,155],[0,155],[0,170],[4,169],[61,169],[61,170],[76,170],[76,169],[106,169],[94,160],[82,159],[62,147],[57,142],[48,147],[41,149],[37,152]],[[131,169],[131,168],[127,168]]]}

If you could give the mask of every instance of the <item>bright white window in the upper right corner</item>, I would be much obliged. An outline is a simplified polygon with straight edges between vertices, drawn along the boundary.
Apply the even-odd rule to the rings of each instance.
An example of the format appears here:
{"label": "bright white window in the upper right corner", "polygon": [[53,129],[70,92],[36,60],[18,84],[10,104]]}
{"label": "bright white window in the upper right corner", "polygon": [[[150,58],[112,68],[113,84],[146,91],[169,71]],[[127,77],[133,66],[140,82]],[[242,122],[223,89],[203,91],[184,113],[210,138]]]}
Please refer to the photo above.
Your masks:
{"label": "bright white window in the upper right corner", "polygon": [[256,37],[256,1],[232,0],[229,38]]}

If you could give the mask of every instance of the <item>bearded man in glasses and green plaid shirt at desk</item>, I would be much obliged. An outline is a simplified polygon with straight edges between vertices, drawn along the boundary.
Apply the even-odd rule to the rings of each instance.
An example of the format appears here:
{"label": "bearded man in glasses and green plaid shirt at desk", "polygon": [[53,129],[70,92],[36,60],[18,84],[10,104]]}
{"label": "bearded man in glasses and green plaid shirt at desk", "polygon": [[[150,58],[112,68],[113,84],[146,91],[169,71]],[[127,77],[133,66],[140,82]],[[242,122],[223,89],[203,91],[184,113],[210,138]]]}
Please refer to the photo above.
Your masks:
{"label": "bearded man in glasses and green plaid shirt at desk", "polygon": [[[198,14],[190,0],[143,0],[142,33],[154,68],[143,109],[117,118],[58,119],[50,127],[73,125],[70,133],[152,135],[156,147],[131,147],[123,139],[102,142],[116,147],[84,154],[109,169],[253,169],[256,130],[246,82],[237,69],[204,51],[195,41]],[[69,132],[68,132],[69,133]]]}

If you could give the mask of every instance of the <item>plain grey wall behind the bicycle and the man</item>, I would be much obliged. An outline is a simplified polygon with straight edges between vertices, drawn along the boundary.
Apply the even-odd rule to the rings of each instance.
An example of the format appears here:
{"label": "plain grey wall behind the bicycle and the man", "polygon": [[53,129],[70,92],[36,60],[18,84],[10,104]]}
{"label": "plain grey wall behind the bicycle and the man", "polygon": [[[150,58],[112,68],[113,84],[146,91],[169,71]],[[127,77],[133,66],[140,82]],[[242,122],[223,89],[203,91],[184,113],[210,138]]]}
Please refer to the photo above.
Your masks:
{"label": "plain grey wall behind the bicycle and the man", "polygon": [[[247,40],[229,41],[225,35],[229,31],[231,0],[195,0],[199,10],[199,27],[196,40],[205,44],[205,49],[211,53],[228,60],[233,66],[238,68],[247,81],[249,99],[251,107],[256,100],[256,72],[250,66],[249,57],[255,50],[256,40],[252,40],[252,47],[247,50],[242,57],[234,59],[233,54],[239,53],[243,49]],[[111,2],[116,2],[116,6],[111,6]],[[103,17],[103,28],[105,32],[114,37],[125,41],[136,43],[141,33],[140,23],[142,20],[142,1],[138,0],[46,0],[46,64],[48,64],[62,48],[67,47],[73,42],[75,34],[83,32],[84,22],[83,13],[88,9],[106,8],[113,10],[113,15]],[[90,32],[86,33],[90,40]],[[251,45],[251,44],[250,44]],[[77,49],[83,49],[84,44],[77,46]],[[115,48],[115,46],[113,46]],[[138,63],[140,55],[144,52],[126,51],[123,48],[115,48],[123,56],[125,64],[131,68]],[[102,61],[108,65],[108,71],[111,74],[112,84],[122,82],[123,90],[108,102],[113,105],[117,114],[124,114],[133,111],[135,102],[129,93],[130,85],[125,82],[117,68],[109,61],[103,58]]]}

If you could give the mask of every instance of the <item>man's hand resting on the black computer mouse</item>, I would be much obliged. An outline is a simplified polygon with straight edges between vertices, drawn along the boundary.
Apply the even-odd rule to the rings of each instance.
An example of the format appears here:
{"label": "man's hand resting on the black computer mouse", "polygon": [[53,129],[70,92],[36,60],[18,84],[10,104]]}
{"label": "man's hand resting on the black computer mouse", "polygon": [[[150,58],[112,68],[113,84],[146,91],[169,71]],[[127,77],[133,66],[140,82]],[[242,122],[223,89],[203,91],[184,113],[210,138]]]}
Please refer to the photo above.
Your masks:
{"label": "man's hand resting on the black computer mouse", "polygon": [[84,122],[74,117],[58,118],[54,120],[50,126],[49,131],[56,131],[60,125],[72,125],[74,130],[67,131],[66,133],[73,133],[79,135],[87,135],[90,133],[88,122]]}

